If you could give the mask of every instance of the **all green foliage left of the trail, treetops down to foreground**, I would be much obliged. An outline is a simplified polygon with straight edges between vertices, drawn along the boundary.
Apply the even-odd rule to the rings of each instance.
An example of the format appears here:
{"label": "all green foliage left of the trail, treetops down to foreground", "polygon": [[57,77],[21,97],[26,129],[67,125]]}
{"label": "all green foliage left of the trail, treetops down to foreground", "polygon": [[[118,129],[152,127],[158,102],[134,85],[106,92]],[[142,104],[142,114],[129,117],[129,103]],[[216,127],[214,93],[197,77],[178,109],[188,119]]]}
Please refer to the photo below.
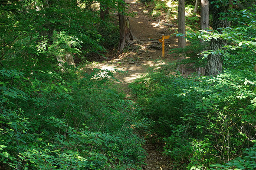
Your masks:
{"label": "all green foliage left of the trail, treetops down to foreground", "polygon": [[[122,10],[122,0],[100,2]],[[118,42],[118,18],[103,21],[93,3],[0,2],[1,170],[143,164],[144,141],[132,129],[138,106],[109,85],[112,73],[82,68]]]}

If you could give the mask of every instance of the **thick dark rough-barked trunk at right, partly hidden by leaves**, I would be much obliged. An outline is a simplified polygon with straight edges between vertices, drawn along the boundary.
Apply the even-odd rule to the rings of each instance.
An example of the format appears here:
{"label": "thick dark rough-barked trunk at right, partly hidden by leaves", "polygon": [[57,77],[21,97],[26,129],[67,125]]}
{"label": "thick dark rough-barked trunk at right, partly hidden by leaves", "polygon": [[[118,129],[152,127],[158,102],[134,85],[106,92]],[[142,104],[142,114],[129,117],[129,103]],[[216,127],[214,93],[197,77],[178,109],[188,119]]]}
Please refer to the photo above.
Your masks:
{"label": "thick dark rough-barked trunk at right, partly hidden by leaves", "polygon": [[[220,4],[220,6],[217,8],[215,4],[211,6],[211,10],[213,13],[213,29],[218,30],[218,32],[221,34],[221,30],[218,28],[226,28],[230,25],[230,22],[227,19],[220,20],[221,17],[220,13],[227,13],[229,9],[229,4]],[[223,48],[223,46],[227,45],[227,41],[217,38],[212,38],[210,42],[210,50],[217,51],[218,49]],[[222,72],[222,64],[223,59],[220,56],[220,53],[212,54],[208,56],[207,60],[207,66],[205,68],[205,75],[206,76],[215,76],[217,74],[220,74]]]}

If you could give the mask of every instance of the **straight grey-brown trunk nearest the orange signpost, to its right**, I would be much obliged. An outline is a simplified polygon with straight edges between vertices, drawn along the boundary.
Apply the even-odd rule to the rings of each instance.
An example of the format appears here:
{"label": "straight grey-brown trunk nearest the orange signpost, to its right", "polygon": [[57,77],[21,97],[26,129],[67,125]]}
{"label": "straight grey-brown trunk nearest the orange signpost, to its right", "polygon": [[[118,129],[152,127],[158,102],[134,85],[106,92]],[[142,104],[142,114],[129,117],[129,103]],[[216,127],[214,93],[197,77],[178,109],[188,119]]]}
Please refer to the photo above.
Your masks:
{"label": "straight grey-brown trunk nearest the orange signpost, to its right", "polygon": [[[184,48],[186,46],[186,39],[184,38],[186,36],[186,26],[185,26],[185,0],[179,0],[179,6],[178,6],[178,32],[180,34],[183,34],[184,36],[179,36],[178,38],[178,47]],[[183,60],[184,54],[179,55],[178,62],[181,62]],[[184,64],[178,64],[177,70],[181,72],[181,74],[185,73],[185,66]]]}

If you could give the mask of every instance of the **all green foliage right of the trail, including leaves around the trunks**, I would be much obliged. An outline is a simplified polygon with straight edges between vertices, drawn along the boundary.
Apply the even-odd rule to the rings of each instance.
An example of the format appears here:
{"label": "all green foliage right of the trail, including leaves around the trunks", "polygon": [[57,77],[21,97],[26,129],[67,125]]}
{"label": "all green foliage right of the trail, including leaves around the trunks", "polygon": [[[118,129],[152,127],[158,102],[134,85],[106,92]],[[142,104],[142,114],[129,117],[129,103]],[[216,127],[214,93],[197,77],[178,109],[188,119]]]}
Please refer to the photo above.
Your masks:
{"label": "all green foliage right of the trail, including leaves around the trunks", "polygon": [[[189,45],[172,51],[187,57],[182,63],[188,70],[204,67],[203,58],[220,53],[222,74],[184,77],[175,73],[174,64],[169,64],[151,69],[130,85],[141,106],[141,119],[150,120],[146,136],[164,145],[163,153],[171,157],[175,168],[256,168],[255,13],[233,9],[223,14],[226,17],[231,26],[222,29],[221,35],[210,29],[198,32],[194,21],[190,22],[192,18],[187,19]],[[217,51],[204,51],[200,58],[197,54],[209,44],[201,46],[199,38],[208,42],[223,38],[228,45]]]}

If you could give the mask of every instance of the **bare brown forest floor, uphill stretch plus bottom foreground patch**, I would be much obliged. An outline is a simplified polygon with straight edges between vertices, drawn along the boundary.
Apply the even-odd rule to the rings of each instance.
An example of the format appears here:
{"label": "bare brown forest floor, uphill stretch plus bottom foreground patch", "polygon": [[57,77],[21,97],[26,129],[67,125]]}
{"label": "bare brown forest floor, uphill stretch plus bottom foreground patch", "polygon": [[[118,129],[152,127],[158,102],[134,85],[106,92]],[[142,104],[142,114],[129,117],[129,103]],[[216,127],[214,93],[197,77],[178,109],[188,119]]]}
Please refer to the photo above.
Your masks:
{"label": "bare brown forest floor, uphill stretch plus bottom foreground patch", "polygon": [[[174,35],[177,31],[177,22],[175,18],[166,20],[166,13],[163,13],[157,19],[152,17],[144,4],[138,0],[126,0],[130,12],[135,13],[134,17],[129,17],[131,32],[143,44],[140,44],[140,50],[125,52],[118,58],[111,61],[98,63],[93,67],[102,70],[114,71],[114,76],[120,81],[118,89],[125,93],[127,99],[133,99],[131,91],[128,88],[129,83],[141,77],[148,72],[148,69],[154,67],[158,69],[163,64],[174,62],[174,55],[168,54],[168,49],[177,48],[178,38],[171,36],[165,41],[165,57],[162,58],[161,44],[158,39],[162,35]],[[176,32],[175,32],[176,33]],[[160,48],[158,48],[159,46]],[[115,69],[125,72],[116,72]],[[171,160],[165,157],[162,152],[161,142],[152,144],[146,140],[144,149],[147,152],[145,163],[142,170],[172,170],[174,169]]]}

